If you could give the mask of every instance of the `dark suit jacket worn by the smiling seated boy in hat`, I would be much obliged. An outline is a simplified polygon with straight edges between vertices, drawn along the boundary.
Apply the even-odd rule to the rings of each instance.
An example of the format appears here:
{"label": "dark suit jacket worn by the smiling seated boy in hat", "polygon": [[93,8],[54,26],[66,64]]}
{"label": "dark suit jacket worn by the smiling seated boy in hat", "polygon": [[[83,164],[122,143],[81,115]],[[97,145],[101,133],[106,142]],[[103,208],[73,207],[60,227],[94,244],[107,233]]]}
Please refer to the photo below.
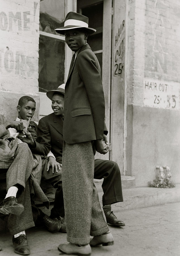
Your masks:
{"label": "dark suit jacket worn by the smiling seated boy in hat", "polygon": [[56,161],[62,162],[63,154],[63,119],[54,113],[42,117],[38,124],[38,138],[33,153],[47,156],[49,151]]}

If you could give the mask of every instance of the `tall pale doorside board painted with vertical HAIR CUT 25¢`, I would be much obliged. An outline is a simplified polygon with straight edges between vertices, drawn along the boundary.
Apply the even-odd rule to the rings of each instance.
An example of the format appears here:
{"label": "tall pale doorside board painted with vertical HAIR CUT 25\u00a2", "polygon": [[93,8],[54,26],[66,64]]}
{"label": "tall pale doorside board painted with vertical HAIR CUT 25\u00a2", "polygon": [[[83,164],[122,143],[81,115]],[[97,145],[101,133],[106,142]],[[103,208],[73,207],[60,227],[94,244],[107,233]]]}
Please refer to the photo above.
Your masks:
{"label": "tall pale doorside board painted with vertical HAIR CUT 25\u00a2", "polygon": [[126,4],[113,2],[112,86],[111,86],[111,160],[124,172],[124,91],[125,91]]}

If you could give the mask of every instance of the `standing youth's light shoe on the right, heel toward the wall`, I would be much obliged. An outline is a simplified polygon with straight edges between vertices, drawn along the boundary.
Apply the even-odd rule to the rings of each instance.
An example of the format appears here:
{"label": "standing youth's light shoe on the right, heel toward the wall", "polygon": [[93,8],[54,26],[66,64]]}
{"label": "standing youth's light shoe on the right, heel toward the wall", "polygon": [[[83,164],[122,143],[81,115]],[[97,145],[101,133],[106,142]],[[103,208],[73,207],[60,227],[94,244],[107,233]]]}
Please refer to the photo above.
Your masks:
{"label": "standing youth's light shoe on the right, heel toward the wall", "polygon": [[89,244],[91,246],[97,246],[97,245],[101,245],[101,244],[102,244],[102,246],[108,246],[108,245],[114,244],[114,239],[113,239],[111,232],[109,231],[102,235],[94,236],[91,239]]}

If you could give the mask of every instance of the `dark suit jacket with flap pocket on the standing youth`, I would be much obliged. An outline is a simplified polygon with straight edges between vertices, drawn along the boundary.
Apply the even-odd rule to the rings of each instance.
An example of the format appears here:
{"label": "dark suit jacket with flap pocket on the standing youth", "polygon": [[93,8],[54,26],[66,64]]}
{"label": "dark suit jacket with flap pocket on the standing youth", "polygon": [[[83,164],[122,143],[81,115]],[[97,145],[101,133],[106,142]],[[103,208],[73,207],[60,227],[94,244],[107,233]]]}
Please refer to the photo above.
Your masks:
{"label": "dark suit jacket with flap pocket on the standing youth", "polygon": [[88,44],[73,63],[65,86],[63,138],[66,143],[103,139],[105,104],[100,65]]}

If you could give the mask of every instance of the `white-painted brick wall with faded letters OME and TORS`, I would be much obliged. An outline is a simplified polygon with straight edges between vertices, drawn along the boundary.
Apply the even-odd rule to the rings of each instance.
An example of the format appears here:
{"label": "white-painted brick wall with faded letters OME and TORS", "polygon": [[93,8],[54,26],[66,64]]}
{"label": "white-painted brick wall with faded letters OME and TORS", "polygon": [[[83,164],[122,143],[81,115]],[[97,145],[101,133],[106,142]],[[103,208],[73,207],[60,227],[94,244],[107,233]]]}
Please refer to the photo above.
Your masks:
{"label": "white-painted brick wall with faded letters OME and TORS", "polygon": [[39,108],[39,2],[1,0],[0,113],[7,118],[17,116],[15,107],[23,95],[32,96]]}

